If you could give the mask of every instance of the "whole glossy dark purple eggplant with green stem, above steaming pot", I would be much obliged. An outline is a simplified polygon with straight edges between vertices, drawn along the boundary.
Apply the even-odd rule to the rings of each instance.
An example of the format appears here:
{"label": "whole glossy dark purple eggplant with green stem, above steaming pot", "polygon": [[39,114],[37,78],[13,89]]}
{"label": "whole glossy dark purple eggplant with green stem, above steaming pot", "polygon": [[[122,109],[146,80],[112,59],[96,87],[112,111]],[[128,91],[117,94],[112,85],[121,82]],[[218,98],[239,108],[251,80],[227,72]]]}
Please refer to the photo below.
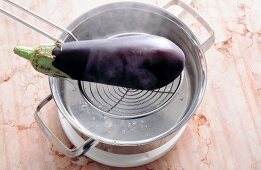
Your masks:
{"label": "whole glossy dark purple eggplant with green stem, above steaming pot", "polygon": [[46,75],[131,89],[154,90],[175,80],[185,65],[183,51],[155,35],[73,41],[14,52]]}

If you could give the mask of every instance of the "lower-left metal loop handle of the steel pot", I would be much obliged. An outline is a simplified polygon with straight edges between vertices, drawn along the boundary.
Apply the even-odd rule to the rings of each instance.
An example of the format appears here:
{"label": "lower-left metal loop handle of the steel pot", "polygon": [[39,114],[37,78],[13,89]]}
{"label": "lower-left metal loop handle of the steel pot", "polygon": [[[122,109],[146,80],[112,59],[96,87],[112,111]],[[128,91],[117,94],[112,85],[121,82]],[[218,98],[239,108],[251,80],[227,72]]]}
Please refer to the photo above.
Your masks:
{"label": "lower-left metal loop handle of the steel pot", "polygon": [[66,145],[64,145],[56,136],[55,134],[46,126],[46,124],[43,122],[43,120],[40,117],[40,110],[50,101],[52,100],[53,97],[50,94],[49,96],[47,96],[44,100],[42,100],[42,102],[37,106],[36,110],[35,110],[35,120],[38,124],[38,126],[40,127],[40,129],[44,132],[44,134],[46,135],[46,137],[58,148],[60,149],[60,151],[70,157],[70,158],[74,158],[74,157],[78,157],[78,156],[82,156],[84,155],[92,146],[95,146],[98,144],[98,141],[94,140],[94,139],[88,139],[86,140],[82,146],[80,147],[76,147],[73,149],[69,149]]}

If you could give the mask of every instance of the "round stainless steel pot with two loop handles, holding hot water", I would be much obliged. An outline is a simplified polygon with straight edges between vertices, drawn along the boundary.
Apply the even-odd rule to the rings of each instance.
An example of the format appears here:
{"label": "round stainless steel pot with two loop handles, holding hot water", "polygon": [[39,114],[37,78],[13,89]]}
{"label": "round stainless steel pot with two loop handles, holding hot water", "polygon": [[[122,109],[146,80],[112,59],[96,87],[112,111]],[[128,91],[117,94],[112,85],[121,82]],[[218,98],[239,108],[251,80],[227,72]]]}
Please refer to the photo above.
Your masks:
{"label": "round stainless steel pot with two loop handles, holding hot water", "polygon": [[[200,44],[181,20],[165,10],[172,5],[182,7],[206,28],[209,32],[206,41]],[[68,30],[76,38],[69,34],[61,36],[64,41],[73,41],[154,34],[172,40],[186,55],[182,76],[152,92],[50,77],[52,94],[37,107],[35,118],[64,154],[80,156],[98,143],[116,146],[154,143],[175,135],[195,113],[206,87],[204,52],[212,46],[214,33],[208,23],[182,1],[170,1],[164,8],[137,2],[107,4],[86,12],[69,25]],[[67,148],[42,121],[40,110],[51,99],[67,121],[89,137],[80,147]]]}

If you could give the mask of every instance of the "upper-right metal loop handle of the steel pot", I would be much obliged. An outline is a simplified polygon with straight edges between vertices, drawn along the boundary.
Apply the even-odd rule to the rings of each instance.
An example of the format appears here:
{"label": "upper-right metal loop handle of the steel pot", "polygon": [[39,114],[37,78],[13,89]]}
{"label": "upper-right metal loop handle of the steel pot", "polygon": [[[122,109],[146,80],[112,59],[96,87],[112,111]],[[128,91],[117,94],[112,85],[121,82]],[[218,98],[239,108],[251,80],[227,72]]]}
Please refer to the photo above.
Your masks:
{"label": "upper-right metal loop handle of the steel pot", "polygon": [[166,3],[165,5],[163,5],[163,8],[167,9],[172,5],[177,5],[181,8],[183,8],[188,13],[190,13],[208,31],[209,37],[200,45],[202,50],[204,52],[206,52],[213,45],[213,43],[215,41],[214,31],[211,28],[211,26],[207,23],[207,21],[201,15],[199,15],[193,8],[191,8],[189,5],[187,5],[182,0],[171,0],[168,3]]}

